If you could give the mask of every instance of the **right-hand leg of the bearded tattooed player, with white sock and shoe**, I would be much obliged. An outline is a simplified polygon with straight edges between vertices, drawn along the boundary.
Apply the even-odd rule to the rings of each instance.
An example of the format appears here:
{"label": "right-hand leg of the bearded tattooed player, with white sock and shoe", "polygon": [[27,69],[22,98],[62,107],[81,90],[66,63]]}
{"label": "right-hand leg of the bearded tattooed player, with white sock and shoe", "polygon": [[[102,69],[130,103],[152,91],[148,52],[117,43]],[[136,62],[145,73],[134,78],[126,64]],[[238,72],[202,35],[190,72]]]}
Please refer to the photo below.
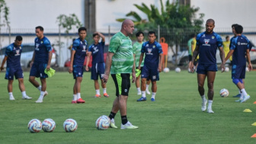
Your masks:
{"label": "right-hand leg of the bearded tattooed player, with white sock and shoe", "polygon": [[213,84],[214,84],[215,76],[216,76],[216,72],[212,72],[212,71],[207,72],[207,86],[208,86],[207,111],[208,113],[214,113],[212,109],[212,104],[213,104],[213,96],[214,96]]}

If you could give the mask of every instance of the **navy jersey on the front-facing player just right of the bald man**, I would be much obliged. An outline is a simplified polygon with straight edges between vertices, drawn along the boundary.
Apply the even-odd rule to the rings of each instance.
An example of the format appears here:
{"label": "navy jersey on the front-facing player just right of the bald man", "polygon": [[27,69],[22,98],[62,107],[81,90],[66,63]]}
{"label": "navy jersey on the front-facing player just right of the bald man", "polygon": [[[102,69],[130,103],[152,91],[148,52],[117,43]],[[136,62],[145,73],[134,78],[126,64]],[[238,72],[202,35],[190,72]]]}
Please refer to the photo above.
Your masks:
{"label": "navy jersey on the front-facing player just right of the bald man", "polygon": [[162,46],[158,42],[149,43],[149,41],[142,44],[141,53],[145,54],[144,66],[149,69],[158,69],[159,54],[162,52]]}

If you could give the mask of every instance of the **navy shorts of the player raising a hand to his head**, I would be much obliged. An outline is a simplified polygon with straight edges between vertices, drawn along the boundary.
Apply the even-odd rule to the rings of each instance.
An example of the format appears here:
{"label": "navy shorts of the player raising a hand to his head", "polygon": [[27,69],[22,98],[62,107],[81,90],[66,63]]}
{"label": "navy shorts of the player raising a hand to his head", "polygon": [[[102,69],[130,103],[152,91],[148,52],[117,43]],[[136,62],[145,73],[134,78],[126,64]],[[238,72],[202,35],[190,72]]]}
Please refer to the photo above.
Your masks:
{"label": "navy shorts of the player raising a hand to his head", "polygon": [[91,79],[98,80],[98,76],[100,76],[100,78],[102,79],[103,75],[104,75],[104,71],[105,71],[105,63],[104,62],[92,64]]}

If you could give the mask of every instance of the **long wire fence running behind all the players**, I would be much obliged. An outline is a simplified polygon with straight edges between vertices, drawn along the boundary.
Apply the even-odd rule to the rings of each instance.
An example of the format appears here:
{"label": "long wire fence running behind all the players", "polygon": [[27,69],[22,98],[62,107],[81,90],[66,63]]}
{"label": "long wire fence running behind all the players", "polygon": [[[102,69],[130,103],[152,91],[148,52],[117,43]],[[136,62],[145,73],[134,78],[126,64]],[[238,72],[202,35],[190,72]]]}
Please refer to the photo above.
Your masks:
{"label": "long wire fence running behind all the players", "polygon": [[[104,31],[103,34],[106,37],[106,43],[109,43],[110,37],[116,34],[119,30],[110,29],[110,27],[108,27],[106,30],[101,30]],[[154,31],[158,36],[158,40],[160,37],[165,37],[165,41],[166,43],[168,43],[168,61],[173,62],[175,65],[187,65],[187,41],[190,39],[191,34],[197,34],[202,30],[200,31],[191,28],[163,29],[158,27]],[[229,37],[232,37],[233,35],[231,27],[215,28],[214,31],[222,37],[223,41],[225,41],[225,37],[227,35]],[[147,33],[149,32],[149,30],[144,30],[144,32],[145,40],[147,40]],[[136,30],[131,37],[134,42],[136,41],[135,34]],[[245,36],[247,36],[252,43],[256,43],[256,27],[244,27],[243,34],[245,34]],[[0,48],[7,46],[10,43],[13,43],[17,35],[21,35],[23,37],[23,43],[34,43],[34,38],[36,37],[34,29],[2,28],[0,30]],[[64,66],[65,61],[70,57],[70,50],[68,48],[70,45],[72,45],[72,39],[78,37],[77,30],[70,30],[69,34],[66,34],[65,30],[63,29],[45,29],[44,35],[49,38],[51,44],[53,45],[53,48],[55,48],[56,53],[59,55],[59,66]],[[92,32],[88,31],[86,40],[88,41],[88,45],[91,45],[93,43]],[[4,53],[0,54],[3,55]]]}

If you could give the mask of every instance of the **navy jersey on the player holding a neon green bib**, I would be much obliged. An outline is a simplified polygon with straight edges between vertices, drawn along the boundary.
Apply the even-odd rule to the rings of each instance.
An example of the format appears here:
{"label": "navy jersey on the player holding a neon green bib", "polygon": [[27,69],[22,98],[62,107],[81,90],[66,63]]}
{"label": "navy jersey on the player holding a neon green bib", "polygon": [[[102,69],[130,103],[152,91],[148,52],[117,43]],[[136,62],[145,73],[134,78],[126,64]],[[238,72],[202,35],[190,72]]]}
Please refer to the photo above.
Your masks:
{"label": "navy jersey on the player holding a neon green bib", "polygon": [[42,39],[37,37],[35,39],[34,62],[48,63],[50,51],[52,51],[50,40],[47,37],[43,37]]}

